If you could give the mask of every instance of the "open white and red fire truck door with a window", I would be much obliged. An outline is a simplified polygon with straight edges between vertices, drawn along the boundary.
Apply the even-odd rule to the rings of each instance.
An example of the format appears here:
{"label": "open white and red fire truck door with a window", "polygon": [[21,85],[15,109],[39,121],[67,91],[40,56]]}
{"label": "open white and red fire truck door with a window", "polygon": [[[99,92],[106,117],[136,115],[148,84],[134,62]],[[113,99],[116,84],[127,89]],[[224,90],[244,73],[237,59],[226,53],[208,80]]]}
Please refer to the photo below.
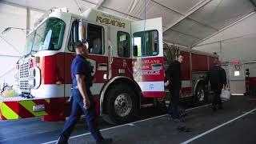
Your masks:
{"label": "open white and red fire truck door with a window", "polygon": [[164,97],[162,18],[131,23],[133,76],[145,98]]}

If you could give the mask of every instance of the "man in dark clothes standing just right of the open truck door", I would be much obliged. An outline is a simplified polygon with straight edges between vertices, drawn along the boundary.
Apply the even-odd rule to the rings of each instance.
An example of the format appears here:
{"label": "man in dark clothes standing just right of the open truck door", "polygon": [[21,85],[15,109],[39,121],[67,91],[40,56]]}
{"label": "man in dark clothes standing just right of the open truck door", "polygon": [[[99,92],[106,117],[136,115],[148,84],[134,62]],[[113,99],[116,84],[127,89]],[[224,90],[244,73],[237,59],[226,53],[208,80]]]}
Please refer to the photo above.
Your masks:
{"label": "man in dark clothes standing just right of the open truck door", "polygon": [[182,88],[182,72],[181,63],[183,61],[183,56],[178,55],[178,60],[172,62],[166,70],[167,82],[165,86],[169,86],[171,94],[171,102],[169,105],[170,117],[174,119],[174,122],[180,122],[178,102],[179,102],[179,90]]}

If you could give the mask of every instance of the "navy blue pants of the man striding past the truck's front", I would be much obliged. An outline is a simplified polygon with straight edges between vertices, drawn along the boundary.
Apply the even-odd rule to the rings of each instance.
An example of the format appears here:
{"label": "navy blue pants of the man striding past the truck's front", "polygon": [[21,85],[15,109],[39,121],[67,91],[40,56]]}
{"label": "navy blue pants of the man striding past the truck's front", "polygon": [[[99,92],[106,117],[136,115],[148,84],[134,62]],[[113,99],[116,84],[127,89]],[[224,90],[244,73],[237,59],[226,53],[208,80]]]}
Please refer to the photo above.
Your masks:
{"label": "navy blue pants of the man striding past the truck's front", "polygon": [[87,126],[90,130],[90,134],[94,137],[96,142],[100,142],[103,140],[102,134],[98,130],[98,126],[97,126],[97,122],[96,122],[96,115],[95,115],[94,102],[92,99],[92,95],[91,95],[90,91],[88,91],[88,92],[87,92],[87,94],[90,98],[90,109],[86,110],[83,107],[84,104],[82,101],[82,95],[80,94],[79,90],[74,89],[71,91],[72,98],[73,98],[72,111],[70,114],[70,118],[65,123],[62,133],[60,134],[58,143],[67,143],[68,139],[70,138],[70,134],[74,130],[74,126],[79,121],[82,113],[86,116],[86,122],[87,122]]}

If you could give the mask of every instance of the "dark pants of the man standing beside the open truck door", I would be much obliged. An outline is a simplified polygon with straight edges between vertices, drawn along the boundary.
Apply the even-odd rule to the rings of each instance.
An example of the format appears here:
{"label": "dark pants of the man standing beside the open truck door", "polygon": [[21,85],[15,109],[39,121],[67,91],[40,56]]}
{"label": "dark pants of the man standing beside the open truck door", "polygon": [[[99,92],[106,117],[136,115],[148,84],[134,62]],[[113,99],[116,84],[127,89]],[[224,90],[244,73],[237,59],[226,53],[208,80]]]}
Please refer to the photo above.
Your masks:
{"label": "dark pants of the man standing beside the open truck door", "polygon": [[170,94],[169,113],[172,118],[176,119],[180,115],[178,110],[179,89],[170,89]]}

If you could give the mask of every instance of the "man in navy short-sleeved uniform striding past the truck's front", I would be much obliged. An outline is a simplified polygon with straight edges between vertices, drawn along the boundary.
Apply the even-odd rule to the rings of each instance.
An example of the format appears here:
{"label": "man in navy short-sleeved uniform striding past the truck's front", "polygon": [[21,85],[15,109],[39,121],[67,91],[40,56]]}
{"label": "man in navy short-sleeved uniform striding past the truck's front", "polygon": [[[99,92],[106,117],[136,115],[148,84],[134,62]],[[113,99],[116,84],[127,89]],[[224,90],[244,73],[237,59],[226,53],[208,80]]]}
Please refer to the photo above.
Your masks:
{"label": "man in navy short-sleeved uniform striding past the truck's front", "polygon": [[71,90],[73,102],[70,118],[66,122],[62,133],[58,139],[58,144],[66,144],[70,138],[74,126],[80,119],[81,114],[85,114],[87,126],[90,134],[94,137],[97,144],[112,143],[111,138],[104,139],[98,130],[96,115],[94,109],[93,95],[90,91],[90,86],[93,83],[93,72],[90,62],[86,60],[88,54],[88,43],[77,42],[75,45],[76,57],[71,66],[71,76],[73,88]]}

